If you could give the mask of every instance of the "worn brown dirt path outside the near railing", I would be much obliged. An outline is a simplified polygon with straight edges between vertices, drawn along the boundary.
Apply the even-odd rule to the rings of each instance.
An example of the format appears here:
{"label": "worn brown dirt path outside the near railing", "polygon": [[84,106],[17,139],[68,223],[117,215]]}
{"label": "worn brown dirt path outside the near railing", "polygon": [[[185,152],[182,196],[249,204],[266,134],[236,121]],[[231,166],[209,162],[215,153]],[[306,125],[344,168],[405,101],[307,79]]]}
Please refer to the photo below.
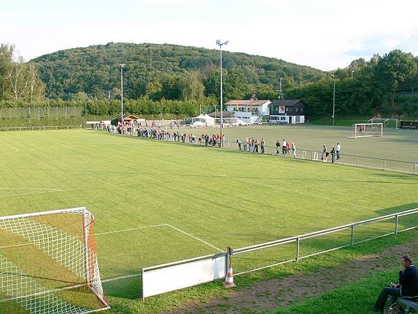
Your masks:
{"label": "worn brown dirt path outside the near railing", "polygon": [[229,296],[205,304],[190,303],[171,313],[262,313],[287,306],[305,298],[319,297],[327,290],[353,283],[374,271],[384,271],[399,263],[398,256],[417,252],[418,240],[392,246],[374,255],[366,255],[337,268],[322,268],[315,274],[294,275],[254,283],[231,290]]}

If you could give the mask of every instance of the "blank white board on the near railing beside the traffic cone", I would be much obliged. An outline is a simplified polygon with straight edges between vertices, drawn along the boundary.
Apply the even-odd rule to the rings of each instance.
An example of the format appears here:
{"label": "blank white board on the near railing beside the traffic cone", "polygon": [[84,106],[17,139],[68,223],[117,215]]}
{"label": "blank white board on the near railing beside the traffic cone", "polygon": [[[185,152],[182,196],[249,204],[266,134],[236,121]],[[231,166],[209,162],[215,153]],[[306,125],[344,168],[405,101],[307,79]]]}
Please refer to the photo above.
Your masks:
{"label": "blank white board on the near railing beside the traffic cone", "polygon": [[188,262],[160,269],[145,270],[142,274],[142,297],[170,292],[226,276],[226,256]]}

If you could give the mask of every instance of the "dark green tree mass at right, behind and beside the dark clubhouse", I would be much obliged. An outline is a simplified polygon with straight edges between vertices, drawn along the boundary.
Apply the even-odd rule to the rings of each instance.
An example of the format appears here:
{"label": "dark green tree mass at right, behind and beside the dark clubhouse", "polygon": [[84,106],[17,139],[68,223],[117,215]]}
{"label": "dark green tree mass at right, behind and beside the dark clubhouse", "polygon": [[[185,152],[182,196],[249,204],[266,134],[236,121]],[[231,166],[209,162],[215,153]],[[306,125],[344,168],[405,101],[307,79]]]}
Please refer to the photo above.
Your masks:
{"label": "dark green tree mass at right, behind and beside the dark clubhouse", "polygon": [[376,54],[370,61],[357,59],[316,82],[288,89],[285,96],[302,99],[309,117],[328,115],[332,112],[336,80],[337,114],[418,117],[417,69],[418,57],[393,50],[384,56]]}

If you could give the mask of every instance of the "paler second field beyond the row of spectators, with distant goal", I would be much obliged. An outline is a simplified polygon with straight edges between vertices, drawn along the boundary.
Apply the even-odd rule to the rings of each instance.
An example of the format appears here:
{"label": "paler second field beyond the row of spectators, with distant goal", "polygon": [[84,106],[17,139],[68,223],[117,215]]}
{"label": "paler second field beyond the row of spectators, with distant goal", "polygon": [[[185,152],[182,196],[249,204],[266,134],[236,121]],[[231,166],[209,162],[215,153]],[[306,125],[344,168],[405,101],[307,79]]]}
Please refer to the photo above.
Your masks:
{"label": "paler second field beyond the row of spectators, with distant goal", "polygon": [[[170,129],[169,129],[170,130]],[[219,128],[184,128],[185,133],[200,136],[208,132],[219,133]],[[341,154],[369,156],[418,162],[418,132],[417,130],[396,130],[384,128],[383,137],[364,137],[349,139],[352,128],[348,126],[316,126],[304,124],[287,126],[246,126],[240,128],[224,128],[226,140],[231,140],[231,147],[235,148],[235,140],[254,137],[265,144],[274,147],[277,140],[286,139],[294,142],[297,149],[322,151],[326,144],[330,151],[336,143],[341,144]],[[270,150],[272,151],[272,150]]]}

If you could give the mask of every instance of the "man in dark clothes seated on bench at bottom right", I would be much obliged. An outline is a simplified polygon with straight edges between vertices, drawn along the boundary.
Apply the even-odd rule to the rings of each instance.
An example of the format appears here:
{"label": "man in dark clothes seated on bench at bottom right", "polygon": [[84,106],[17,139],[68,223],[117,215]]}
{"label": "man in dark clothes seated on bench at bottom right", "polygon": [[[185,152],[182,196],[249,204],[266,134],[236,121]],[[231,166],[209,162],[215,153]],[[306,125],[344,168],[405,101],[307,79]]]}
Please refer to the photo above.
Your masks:
{"label": "man in dark clothes seated on bench at bottom right", "polygon": [[399,282],[392,285],[392,287],[385,287],[380,292],[380,295],[373,307],[375,312],[383,312],[387,297],[389,295],[390,304],[394,304],[398,297],[418,297],[418,269],[412,264],[412,259],[409,255],[405,255],[401,260],[402,267],[399,269]]}

